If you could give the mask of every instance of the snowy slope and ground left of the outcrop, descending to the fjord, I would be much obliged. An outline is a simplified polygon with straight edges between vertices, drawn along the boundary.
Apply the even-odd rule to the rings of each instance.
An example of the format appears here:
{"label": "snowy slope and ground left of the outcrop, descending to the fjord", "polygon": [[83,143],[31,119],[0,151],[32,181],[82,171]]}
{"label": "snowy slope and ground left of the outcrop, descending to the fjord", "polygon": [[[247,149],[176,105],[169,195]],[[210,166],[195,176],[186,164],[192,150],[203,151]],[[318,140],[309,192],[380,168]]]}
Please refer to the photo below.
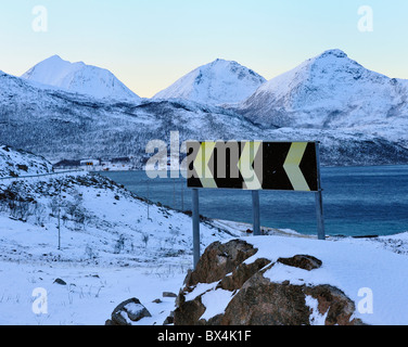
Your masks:
{"label": "snowy slope and ground left of the outcrop, descending to the fjord", "polygon": [[[0,324],[104,324],[133,296],[153,316],[143,324],[174,309],[162,293],[178,293],[192,267],[189,216],[85,172],[0,181]],[[242,234],[207,222],[201,231],[202,247]],[[33,311],[36,288],[47,291],[46,314]]]}

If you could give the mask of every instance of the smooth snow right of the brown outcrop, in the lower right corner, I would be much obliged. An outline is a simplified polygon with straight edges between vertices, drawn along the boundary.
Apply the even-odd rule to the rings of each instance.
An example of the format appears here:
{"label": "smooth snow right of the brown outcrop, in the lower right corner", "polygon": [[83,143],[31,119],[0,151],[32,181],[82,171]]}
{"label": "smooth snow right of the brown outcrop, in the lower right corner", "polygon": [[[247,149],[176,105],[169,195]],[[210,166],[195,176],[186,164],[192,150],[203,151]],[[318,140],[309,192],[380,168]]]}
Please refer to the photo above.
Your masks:
{"label": "smooth snow right of the brown outcrop, in the lower right corner", "polygon": [[[386,237],[384,237],[386,239]],[[253,237],[259,250],[253,257],[276,261],[279,257],[307,254],[322,260],[322,267],[307,271],[282,264],[265,272],[272,282],[331,284],[356,303],[355,317],[367,324],[408,324],[408,233],[395,235],[405,243],[405,255],[384,249],[382,243],[344,239],[318,241],[298,237]],[[405,241],[404,241],[405,240]],[[253,259],[246,259],[251,262]]]}

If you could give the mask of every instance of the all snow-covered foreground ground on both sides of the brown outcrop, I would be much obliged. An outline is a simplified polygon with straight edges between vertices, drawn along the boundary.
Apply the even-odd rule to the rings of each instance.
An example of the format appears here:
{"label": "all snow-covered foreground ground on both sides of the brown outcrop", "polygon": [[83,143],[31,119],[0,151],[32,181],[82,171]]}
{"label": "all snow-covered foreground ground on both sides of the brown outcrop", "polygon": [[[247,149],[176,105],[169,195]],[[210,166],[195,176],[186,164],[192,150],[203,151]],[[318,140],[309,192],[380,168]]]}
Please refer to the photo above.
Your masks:
{"label": "all snow-covered foreground ground on both sides of the brown outcrop", "polygon": [[[11,210],[7,200],[0,208],[0,324],[104,324],[113,309],[131,297],[152,313],[138,322],[141,325],[163,324],[174,310],[175,299],[162,294],[177,294],[192,267],[189,216],[85,174],[0,182],[0,192],[18,192],[29,202],[26,213],[24,206],[23,211]],[[359,290],[369,288],[373,313],[364,314],[365,322],[408,324],[408,233],[322,242],[292,230],[265,229],[268,235],[253,236],[245,232],[250,227],[203,221],[202,250],[214,241],[245,237],[259,248],[257,257],[316,256],[323,267],[313,273],[280,266],[267,275],[273,281],[329,283],[356,305],[362,298]],[[47,307],[38,304],[44,293]],[[161,303],[153,303],[156,298]],[[214,293],[206,297],[218,303],[217,310],[227,298]]]}

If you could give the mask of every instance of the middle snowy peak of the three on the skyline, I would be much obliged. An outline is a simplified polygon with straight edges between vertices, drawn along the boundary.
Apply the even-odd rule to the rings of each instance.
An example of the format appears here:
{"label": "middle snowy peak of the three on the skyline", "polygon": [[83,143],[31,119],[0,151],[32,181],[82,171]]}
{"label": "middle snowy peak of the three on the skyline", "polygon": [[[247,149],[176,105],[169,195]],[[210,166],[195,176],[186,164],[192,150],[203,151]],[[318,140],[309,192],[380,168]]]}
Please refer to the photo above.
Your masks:
{"label": "middle snowy peak of the three on the skyline", "polygon": [[248,98],[266,79],[237,62],[217,59],[184,75],[154,99],[186,99],[219,105]]}

